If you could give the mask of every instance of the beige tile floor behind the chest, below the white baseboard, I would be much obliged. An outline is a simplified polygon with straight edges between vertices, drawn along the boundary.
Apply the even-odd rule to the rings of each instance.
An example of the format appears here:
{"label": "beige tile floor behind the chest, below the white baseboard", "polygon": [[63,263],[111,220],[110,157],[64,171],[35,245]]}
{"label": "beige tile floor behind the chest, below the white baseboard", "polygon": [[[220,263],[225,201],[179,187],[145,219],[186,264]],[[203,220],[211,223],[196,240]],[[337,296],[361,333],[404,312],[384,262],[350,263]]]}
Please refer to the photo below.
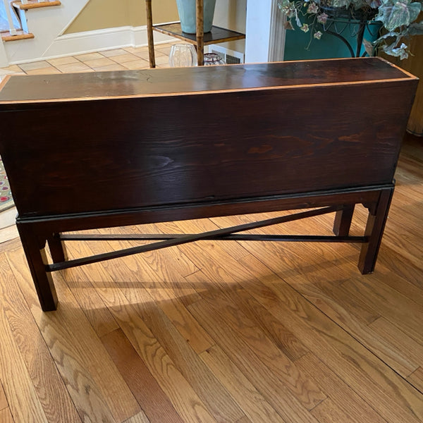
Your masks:
{"label": "beige tile floor behind the chest, below the white baseboard", "polygon": [[[168,67],[168,55],[171,51],[172,44],[156,45],[154,52],[156,66],[158,68]],[[125,71],[125,69],[142,69],[148,67],[147,47],[124,47],[122,49],[97,51],[94,53],[21,63],[19,65],[8,66],[7,68],[0,68],[0,80],[5,75],[17,73],[46,75],[49,73]]]}

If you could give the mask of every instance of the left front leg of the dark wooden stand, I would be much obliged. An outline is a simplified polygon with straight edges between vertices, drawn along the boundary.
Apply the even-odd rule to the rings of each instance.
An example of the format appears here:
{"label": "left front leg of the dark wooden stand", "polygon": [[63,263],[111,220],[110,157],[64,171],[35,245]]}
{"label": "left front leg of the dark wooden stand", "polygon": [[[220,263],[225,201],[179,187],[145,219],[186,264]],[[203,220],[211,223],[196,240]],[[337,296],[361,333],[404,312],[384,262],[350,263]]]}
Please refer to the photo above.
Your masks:
{"label": "left front leg of the dark wooden stand", "polygon": [[57,308],[56,289],[51,274],[45,269],[47,264],[45,241],[40,243],[28,226],[19,223],[17,226],[41,308],[43,312],[55,310]]}

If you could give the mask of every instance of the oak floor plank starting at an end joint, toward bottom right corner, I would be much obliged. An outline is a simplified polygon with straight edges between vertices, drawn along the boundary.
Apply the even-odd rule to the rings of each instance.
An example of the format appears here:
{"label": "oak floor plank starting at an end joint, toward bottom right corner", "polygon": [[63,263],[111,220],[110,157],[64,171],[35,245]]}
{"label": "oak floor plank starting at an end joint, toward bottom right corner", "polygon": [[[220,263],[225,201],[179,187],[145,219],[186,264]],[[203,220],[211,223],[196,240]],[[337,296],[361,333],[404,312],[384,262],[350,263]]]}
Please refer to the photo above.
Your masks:
{"label": "oak floor plank starting at an end joint, toward bottom right corner", "polygon": [[[304,355],[300,360],[297,360],[295,364],[302,369],[305,374],[308,374],[316,381],[322,391],[327,394],[333,405],[348,415],[349,420],[347,421],[354,423],[386,423],[386,420],[366,402],[366,398],[362,398],[359,393],[353,391],[343,379],[321,362],[314,353]],[[325,401],[326,400],[324,400],[323,403]],[[319,405],[317,407],[319,407]],[[313,409],[312,414],[317,417],[314,414],[314,410],[315,409]],[[322,411],[319,412],[319,415],[322,414],[324,414]],[[343,423],[344,420],[339,419],[338,422]]]}

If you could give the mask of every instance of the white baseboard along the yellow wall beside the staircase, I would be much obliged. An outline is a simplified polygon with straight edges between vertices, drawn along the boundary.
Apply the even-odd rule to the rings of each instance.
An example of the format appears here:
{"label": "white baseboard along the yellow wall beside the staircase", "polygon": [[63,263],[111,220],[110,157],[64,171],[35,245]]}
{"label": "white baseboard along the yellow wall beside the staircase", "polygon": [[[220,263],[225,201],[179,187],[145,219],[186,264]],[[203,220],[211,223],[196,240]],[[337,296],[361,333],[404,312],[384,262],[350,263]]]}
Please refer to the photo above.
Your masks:
{"label": "white baseboard along the yellow wall beside the staircase", "polygon": [[[174,41],[175,38],[168,35],[154,32],[154,43]],[[108,49],[119,49],[121,47],[142,47],[147,46],[147,26],[140,27],[115,27],[104,30],[78,32],[75,34],[60,35],[50,47],[44,51],[41,57],[30,59],[39,61],[54,59],[63,56],[73,56],[75,54],[85,54],[92,51],[102,51]],[[11,61],[10,64],[23,63],[23,61]]]}

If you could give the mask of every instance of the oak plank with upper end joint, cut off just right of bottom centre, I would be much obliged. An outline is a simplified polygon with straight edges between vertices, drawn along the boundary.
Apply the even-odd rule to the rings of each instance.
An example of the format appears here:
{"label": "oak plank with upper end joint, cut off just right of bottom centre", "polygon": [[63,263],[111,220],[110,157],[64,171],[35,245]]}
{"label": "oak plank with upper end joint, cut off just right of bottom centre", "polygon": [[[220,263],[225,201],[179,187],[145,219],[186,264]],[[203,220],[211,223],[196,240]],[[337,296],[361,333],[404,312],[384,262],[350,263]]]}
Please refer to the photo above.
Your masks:
{"label": "oak plank with upper end joint, cut off just right of bottom centre", "polygon": [[[200,355],[209,369],[224,384],[252,423],[284,423],[273,407],[217,345]],[[238,422],[239,420],[237,420]]]}

